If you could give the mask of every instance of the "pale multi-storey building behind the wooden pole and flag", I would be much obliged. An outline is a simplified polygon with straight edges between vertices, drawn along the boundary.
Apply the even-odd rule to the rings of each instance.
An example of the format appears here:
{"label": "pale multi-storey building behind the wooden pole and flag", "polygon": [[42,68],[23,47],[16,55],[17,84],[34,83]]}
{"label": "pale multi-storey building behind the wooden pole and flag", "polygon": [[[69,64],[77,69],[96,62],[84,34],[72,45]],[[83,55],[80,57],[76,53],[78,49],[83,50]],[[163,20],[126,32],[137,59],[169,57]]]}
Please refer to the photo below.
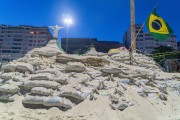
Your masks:
{"label": "pale multi-storey building behind the wooden pole and flag", "polygon": [[[142,25],[136,25],[135,26],[135,32],[136,34],[141,29]],[[131,45],[131,31],[130,28],[127,32],[125,32],[123,37],[123,43],[126,48],[129,48]],[[164,42],[158,42],[150,33],[145,33],[144,28],[139,32],[139,35],[136,38],[136,49],[139,52],[143,53],[151,53],[155,47],[158,47],[160,45],[163,46],[170,46],[173,47],[173,49],[177,50],[177,42],[176,42],[176,35],[170,36],[167,40]]]}

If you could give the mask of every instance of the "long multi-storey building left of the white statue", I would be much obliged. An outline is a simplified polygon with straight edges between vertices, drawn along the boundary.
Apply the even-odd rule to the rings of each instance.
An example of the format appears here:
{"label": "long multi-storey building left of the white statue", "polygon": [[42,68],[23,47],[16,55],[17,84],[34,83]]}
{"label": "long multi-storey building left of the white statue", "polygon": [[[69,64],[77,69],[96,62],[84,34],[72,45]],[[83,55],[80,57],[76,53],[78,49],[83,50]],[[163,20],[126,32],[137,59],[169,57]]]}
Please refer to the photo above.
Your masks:
{"label": "long multi-storey building left of the white statue", "polygon": [[45,46],[51,38],[48,27],[0,25],[0,62],[23,57],[33,48]]}

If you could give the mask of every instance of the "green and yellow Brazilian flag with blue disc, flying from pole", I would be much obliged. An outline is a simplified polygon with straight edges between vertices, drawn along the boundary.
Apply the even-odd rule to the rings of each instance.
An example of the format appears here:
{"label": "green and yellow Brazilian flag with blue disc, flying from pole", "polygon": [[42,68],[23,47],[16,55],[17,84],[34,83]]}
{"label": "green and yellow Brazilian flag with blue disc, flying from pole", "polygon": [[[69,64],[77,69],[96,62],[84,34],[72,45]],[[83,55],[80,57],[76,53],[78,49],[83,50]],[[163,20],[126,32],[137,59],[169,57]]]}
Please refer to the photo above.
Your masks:
{"label": "green and yellow Brazilian flag with blue disc, flying from pole", "polygon": [[146,25],[152,36],[160,42],[165,41],[173,34],[171,27],[156,13],[156,9],[153,10],[146,20]]}

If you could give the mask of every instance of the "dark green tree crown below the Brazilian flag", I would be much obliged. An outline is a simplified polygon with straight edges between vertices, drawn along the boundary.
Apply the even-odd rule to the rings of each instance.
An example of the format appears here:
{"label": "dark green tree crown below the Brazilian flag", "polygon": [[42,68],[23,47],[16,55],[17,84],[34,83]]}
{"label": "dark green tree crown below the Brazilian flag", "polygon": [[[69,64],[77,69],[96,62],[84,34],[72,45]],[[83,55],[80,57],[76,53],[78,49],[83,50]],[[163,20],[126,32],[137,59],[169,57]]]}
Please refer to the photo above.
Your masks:
{"label": "dark green tree crown below the Brazilian flag", "polygon": [[155,47],[154,48],[154,51],[152,52],[152,54],[155,54],[155,53],[165,53],[165,52],[173,52],[173,51],[174,51],[173,47],[160,45],[159,47]]}

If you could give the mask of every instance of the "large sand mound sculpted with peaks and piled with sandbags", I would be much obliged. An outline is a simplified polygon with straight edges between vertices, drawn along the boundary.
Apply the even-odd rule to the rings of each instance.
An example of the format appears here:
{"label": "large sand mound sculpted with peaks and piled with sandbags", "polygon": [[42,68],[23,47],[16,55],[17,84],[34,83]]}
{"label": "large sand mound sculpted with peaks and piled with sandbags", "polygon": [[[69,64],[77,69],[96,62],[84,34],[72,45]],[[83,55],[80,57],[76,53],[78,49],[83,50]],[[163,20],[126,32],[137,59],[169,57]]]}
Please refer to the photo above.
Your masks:
{"label": "large sand mound sculpted with peaks and piled with sandbags", "polygon": [[[56,107],[66,112],[79,111],[78,108],[83,111],[86,106],[92,111],[91,104],[94,104],[98,105],[99,111],[105,110],[106,106],[112,115],[115,111],[135,111],[134,119],[145,119],[145,116],[151,119],[153,115],[166,114],[165,110],[157,113],[158,105],[175,104],[171,99],[180,103],[180,74],[163,72],[155,61],[142,54],[134,54],[134,65],[131,66],[127,51],[104,54],[91,50],[82,56],[69,55],[57,47],[56,39],[52,39],[45,47],[33,49],[24,57],[3,64],[0,106],[14,103],[19,98],[18,103],[23,109],[32,110]],[[170,109],[168,105],[162,108],[166,107]],[[150,111],[149,115],[137,113],[136,108]],[[87,110],[84,112],[88,113]],[[178,107],[176,110],[180,111]],[[98,119],[96,114],[92,116],[92,119]],[[121,117],[112,119],[117,118]]]}

